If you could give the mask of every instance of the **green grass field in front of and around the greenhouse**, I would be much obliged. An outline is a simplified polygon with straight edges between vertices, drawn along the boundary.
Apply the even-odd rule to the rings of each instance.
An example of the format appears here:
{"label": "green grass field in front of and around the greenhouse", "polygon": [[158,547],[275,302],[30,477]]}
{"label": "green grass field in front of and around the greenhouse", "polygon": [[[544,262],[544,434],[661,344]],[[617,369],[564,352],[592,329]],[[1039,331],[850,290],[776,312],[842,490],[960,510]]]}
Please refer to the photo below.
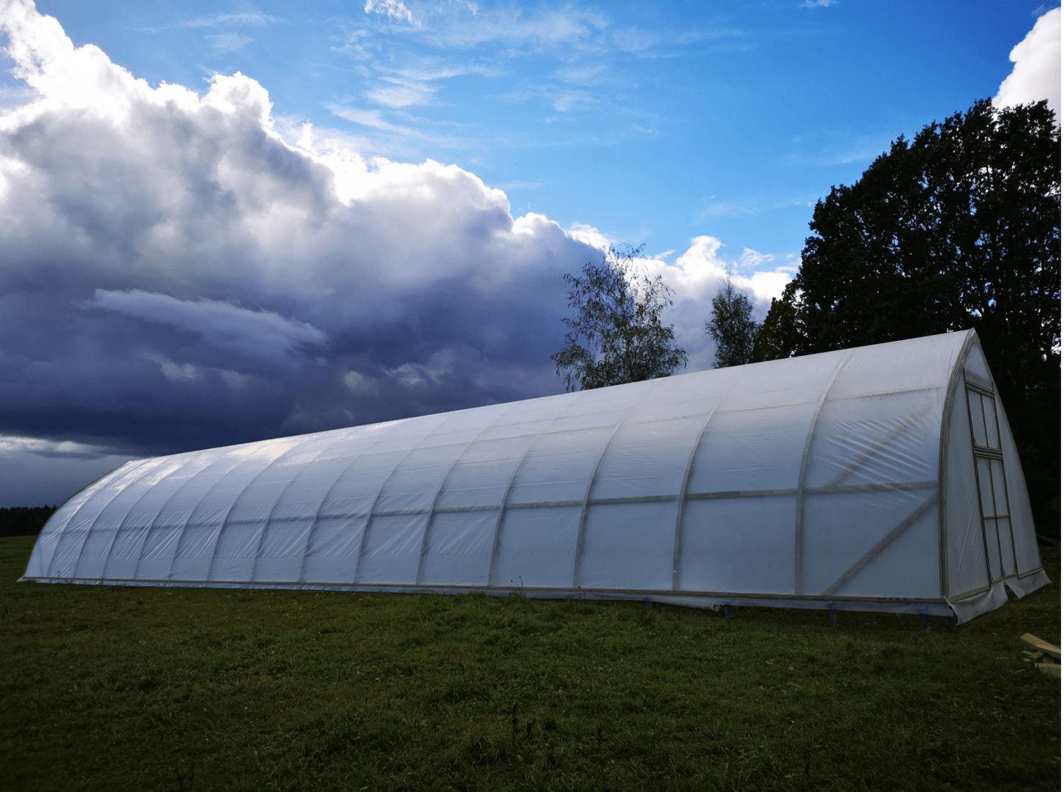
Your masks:
{"label": "green grass field in front of and around the greenhouse", "polygon": [[[1053,586],[933,619],[16,584],[4,789],[1059,789]],[[1059,577],[1059,555],[1045,554]]]}

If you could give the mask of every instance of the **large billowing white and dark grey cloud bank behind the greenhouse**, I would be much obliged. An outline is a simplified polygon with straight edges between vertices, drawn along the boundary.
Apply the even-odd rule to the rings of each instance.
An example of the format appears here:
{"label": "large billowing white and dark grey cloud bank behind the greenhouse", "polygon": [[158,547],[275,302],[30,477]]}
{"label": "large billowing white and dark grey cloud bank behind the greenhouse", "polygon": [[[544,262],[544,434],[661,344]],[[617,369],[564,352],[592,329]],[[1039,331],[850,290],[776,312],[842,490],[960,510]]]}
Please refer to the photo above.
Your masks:
{"label": "large billowing white and dark grey cloud bank behind the greenhouse", "polygon": [[[560,390],[561,275],[600,256],[594,229],[282,134],[239,73],[152,87],[26,0],[0,33],[28,89],[0,112],[0,505],[69,494],[31,486],[63,443],[100,467]],[[695,359],[718,249],[650,263]],[[763,304],[787,277],[742,283]]]}

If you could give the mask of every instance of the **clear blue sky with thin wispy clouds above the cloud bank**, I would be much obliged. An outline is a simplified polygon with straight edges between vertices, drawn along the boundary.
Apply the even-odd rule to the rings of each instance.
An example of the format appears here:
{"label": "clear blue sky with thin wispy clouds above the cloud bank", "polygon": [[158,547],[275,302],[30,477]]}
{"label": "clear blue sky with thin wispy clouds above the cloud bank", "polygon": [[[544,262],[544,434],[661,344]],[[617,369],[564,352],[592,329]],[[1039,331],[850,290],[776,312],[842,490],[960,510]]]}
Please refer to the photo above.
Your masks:
{"label": "clear blue sky with thin wispy clouds above the cloud bank", "polygon": [[38,3],[153,84],[240,71],[277,116],[458,164],[515,214],[651,253],[712,234],[778,260],[831,185],[994,96],[1054,5]]}

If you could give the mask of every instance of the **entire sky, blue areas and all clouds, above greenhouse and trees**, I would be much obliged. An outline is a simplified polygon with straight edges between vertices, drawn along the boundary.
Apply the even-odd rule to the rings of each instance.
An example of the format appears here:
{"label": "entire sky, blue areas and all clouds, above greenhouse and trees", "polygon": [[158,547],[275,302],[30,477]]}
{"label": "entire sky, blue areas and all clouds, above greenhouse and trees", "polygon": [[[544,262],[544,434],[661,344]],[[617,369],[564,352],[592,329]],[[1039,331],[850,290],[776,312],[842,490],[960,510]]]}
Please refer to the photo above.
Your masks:
{"label": "entire sky, blue areas and all clouds, above greenhouse and trees", "polygon": [[0,0],[0,506],[560,392],[563,275],[759,316],[898,135],[1060,107],[1055,3]]}

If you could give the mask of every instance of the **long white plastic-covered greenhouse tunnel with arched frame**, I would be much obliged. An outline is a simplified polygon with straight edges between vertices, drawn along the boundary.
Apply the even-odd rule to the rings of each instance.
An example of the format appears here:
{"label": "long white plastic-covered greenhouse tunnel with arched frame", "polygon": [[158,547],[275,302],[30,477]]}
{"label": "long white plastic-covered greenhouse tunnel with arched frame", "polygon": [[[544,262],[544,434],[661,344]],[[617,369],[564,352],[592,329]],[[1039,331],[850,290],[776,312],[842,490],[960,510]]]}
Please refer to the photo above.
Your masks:
{"label": "long white plastic-covered greenhouse tunnel with arched frame", "polygon": [[23,579],[961,621],[1047,582],[974,332],[131,461]]}

